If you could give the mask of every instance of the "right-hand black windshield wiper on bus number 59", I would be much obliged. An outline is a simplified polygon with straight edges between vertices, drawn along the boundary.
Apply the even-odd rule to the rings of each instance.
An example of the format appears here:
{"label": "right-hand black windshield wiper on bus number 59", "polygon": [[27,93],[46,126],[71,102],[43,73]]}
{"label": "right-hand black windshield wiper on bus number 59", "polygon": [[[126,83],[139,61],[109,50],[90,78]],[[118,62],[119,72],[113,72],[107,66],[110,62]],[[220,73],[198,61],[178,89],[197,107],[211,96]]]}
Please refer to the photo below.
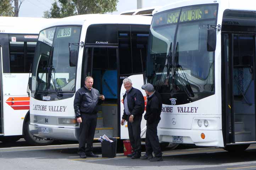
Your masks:
{"label": "right-hand black windshield wiper on bus number 59", "polygon": [[[191,86],[190,86],[190,84],[188,82],[188,78],[187,78],[187,76],[186,76],[186,74],[184,72],[184,69],[182,68],[182,66],[180,66],[178,64],[178,62],[179,62],[179,42],[177,42],[177,44],[176,44],[174,62],[175,62],[175,64],[174,64],[175,67],[173,68],[173,82],[172,83],[177,86],[177,84],[176,84],[176,74],[177,74],[178,75],[178,79],[180,81],[180,84],[182,84],[184,91],[187,93],[187,95],[189,97],[194,97],[195,96],[194,92],[193,92],[193,90],[192,90],[192,88],[191,88]],[[182,77],[183,78],[179,74],[178,69],[180,69],[180,71],[182,72]]]}

